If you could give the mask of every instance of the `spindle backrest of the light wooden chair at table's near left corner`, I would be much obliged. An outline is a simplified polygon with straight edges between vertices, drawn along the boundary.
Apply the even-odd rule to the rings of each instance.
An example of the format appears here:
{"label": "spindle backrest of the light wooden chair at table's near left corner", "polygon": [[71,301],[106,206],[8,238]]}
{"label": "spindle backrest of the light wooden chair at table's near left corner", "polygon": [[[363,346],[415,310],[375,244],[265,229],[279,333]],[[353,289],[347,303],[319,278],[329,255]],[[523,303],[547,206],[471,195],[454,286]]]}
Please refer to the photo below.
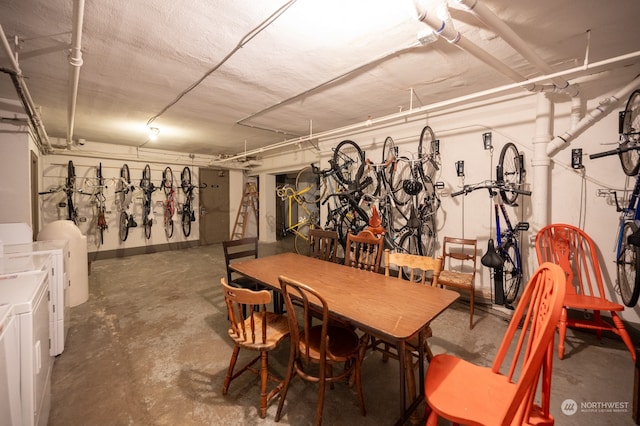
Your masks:
{"label": "spindle backrest of the light wooden chair at table's near left corner", "polygon": [[247,343],[266,344],[266,305],[271,302],[271,293],[267,290],[254,291],[231,287],[226,278],[220,279],[220,283],[227,304],[231,337]]}

